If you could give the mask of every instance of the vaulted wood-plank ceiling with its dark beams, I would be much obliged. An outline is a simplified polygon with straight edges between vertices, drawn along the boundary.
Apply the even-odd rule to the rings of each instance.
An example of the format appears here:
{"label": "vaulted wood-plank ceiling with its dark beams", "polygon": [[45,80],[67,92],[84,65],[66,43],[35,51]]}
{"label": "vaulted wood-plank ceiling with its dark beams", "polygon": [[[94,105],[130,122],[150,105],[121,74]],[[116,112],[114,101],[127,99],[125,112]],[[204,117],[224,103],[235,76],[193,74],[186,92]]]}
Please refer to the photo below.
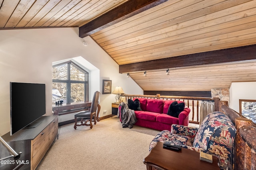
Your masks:
{"label": "vaulted wood-plank ceiling with its dark beams", "polygon": [[0,4],[0,29],[79,27],[80,37],[91,36],[144,91],[210,91],[256,81],[256,0]]}

